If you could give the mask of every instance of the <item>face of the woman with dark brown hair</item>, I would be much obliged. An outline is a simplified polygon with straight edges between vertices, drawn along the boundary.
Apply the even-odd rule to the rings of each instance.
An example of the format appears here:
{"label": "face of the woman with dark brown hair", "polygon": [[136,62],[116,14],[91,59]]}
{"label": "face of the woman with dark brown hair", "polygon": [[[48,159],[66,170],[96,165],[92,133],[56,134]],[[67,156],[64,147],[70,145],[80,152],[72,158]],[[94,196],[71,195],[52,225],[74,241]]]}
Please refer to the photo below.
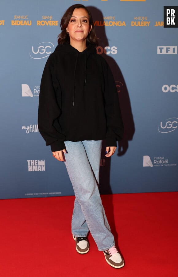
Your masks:
{"label": "face of the woman with dark brown hair", "polygon": [[85,41],[91,28],[87,11],[83,8],[75,9],[66,28],[69,32],[70,43]]}

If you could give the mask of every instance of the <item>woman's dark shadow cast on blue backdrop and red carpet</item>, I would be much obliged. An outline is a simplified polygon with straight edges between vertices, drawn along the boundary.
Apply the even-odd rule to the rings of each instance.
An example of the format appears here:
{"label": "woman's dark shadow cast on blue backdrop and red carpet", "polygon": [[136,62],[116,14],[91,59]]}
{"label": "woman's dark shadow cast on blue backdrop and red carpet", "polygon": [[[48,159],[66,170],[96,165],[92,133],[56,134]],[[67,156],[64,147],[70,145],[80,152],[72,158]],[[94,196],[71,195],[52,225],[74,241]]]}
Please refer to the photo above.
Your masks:
{"label": "woman's dark shadow cast on blue backdrop and red carpet", "polygon": [[[103,14],[101,10],[99,10],[94,6],[87,6],[87,8],[91,11],[94,23],[95,21],[103,22]],[[124,123],[124,135],[122,140],[118,143],[117,155],[122,156],[126,153],[129,147],[128,141],[132,140],[135,132],[134,120],[133,120],[133,115],[132,115],[132,110],[130,105],[130,98],[129,98],[124,77],[122,75],[122,72],[118,64],[110,55],[105,54],[103,51],[103,49],[106,46],[109,46],[109,42],[106,37],[105,26],[95,25],[95,32],[96,32],[96,36],[99,38],[99,48],[97,49],[97,52],[101,54],[109,64],[111,71],[113,73],[114,80],[116,82],[117,91],[118,91],[118,98],[119,98],[120,107],[121,107],[122,120]],[[99,174],[99,191],[100,191],[100,194],[110,194],[107,196],[107,203],[103,203],[103,205],[105,206],[106,216],[108,216],[109,218],[111,230],[117,244],[118,233],[115,228],[112,189],[110,186],[111,158],[105,157],[105,151],[106,151],[106,143],[105,141],[103,141],[101,162],[100,162],[100,174]]]}

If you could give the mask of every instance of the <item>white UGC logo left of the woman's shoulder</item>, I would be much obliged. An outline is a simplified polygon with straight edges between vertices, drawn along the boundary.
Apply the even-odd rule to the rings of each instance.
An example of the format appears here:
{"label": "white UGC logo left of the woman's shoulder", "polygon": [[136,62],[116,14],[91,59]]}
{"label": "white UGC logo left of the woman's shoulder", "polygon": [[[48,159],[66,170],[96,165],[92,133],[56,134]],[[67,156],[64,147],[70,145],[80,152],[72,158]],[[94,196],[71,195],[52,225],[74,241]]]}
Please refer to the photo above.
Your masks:
{"label": "white UGC logo left of the woman's shoulder", "polygon": [[43,59],[52,53],[51,50],[54,47],[52,42],[40,42],[38,45],[37,47],[32,46],[32,52],[30,52],[30,57],[32,59]]}

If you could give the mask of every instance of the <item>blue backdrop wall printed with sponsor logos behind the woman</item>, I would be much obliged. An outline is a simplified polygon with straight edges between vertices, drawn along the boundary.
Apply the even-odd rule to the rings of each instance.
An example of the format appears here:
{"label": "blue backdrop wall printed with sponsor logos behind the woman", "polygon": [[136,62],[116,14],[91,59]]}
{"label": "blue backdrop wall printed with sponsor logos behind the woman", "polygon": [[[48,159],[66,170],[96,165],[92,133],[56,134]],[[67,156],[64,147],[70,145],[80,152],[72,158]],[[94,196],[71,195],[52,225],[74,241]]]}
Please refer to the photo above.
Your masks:
{"label": "blue backdrop wall printed with sponsor logos behind the woman", "polygon": [[0,198],[73,195],[64,163],[37,126],[44,65],[60,18],[76,3],[91,9],[97,51],[114,74],[125,133],[100,163],[101,193],[178,189],[178,28],[163,27],[177,0],[2,0]]}

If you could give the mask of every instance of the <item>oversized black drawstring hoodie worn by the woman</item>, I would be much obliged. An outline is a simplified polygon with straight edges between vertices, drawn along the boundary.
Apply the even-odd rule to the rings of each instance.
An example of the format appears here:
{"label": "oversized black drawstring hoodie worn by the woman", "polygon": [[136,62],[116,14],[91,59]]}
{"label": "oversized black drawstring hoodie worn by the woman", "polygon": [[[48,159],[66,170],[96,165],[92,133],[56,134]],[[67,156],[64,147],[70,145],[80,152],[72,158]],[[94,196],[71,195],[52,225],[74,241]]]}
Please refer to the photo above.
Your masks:
{"label": "oversized black drawstring hoodie worn by the woman", "polygon": [[93,46],[79,52],[64,43],[49,56],[41,79],[38,128],[52,151],[65,149],[67,140],[106,138],[106,146],[116,146],[122,138],[115,81]]}

